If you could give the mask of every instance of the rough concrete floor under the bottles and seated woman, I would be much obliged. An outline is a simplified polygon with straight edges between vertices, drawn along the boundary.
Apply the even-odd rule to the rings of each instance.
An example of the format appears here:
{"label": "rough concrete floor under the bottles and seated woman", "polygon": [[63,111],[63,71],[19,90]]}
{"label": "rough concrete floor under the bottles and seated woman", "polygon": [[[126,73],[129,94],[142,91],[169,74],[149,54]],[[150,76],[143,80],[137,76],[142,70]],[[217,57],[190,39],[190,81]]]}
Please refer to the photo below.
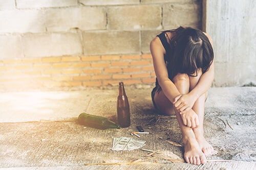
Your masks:
{"label": "rough concrete floor under the bottles and seated woman", "polygon": [[[131,126],[98,130],[77,123],[81,112],[116,120],[118,89],[83,91],[2,92],[0,95],[0,167],[5,169],[256,169],[256,87],[211,88],[205,106],[204,131],[214,155],[204,165],[172,163],[183,157],[176,118],[161,118],[151,102],[151,88],[126,87]],[[224,120],[224,123],[219,119]],[[227,120],[231,128],[227,125]],[[112,138],[130,135],[141,125],[148,135],[144,149],[159,150],[154,158],[130,165],[148,152],[111,151]],[[137,138],[133,136],[134,138]],[[89,165],[88,165],[89,164]]]}

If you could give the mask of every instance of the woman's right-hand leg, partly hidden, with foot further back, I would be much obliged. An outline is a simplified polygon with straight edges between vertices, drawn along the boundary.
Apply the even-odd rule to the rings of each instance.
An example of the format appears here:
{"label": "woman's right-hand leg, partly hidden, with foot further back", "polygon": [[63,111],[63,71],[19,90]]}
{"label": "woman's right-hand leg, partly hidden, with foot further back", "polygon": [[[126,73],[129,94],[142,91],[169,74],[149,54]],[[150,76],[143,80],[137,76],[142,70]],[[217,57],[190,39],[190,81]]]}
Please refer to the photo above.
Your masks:
{"label": "woman's right-hand leg, partly hidden, with foot further back", "polygon": [[[197,85],[201,76],[202,76],[201,70],[198,72],[197,77],[189,76],[189,84],[190,84],[189,91],[192,90],[193,88],[195,88],[195,86]],[[209,155],[214,151],[214,148],[212,148],[212,146],[205,140],[205,138],[203,136],[203,134],[204,134],[204,129],[203,129],[204,103],[205,103],[206,97],[207,97],[207,92],[202,94],[197,99],[197,101],[195,102],[195,104],[192,108],[197,113],[198,118],[199,118],[199,126],[198,126],[198,128],[194,128],[193,131],[195,133],[196,139],[197,139],[198,144],[199,144],[200,148],[202,149],[203,153],[205,155]]]}

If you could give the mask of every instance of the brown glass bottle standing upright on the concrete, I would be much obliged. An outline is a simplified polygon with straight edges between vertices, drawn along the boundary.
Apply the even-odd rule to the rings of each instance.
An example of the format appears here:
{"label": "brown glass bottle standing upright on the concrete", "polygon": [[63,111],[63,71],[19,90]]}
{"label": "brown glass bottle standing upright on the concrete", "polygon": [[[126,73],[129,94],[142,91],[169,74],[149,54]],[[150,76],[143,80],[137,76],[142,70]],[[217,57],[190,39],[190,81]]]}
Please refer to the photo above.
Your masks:
{"label": "brown glass bottle standing upright on the concrete", "polygon": [[123,82],[119,82],[119,95],[117,96],[117,118],[120,127],[127,128],[131,125],[130,106],[125,94]]}

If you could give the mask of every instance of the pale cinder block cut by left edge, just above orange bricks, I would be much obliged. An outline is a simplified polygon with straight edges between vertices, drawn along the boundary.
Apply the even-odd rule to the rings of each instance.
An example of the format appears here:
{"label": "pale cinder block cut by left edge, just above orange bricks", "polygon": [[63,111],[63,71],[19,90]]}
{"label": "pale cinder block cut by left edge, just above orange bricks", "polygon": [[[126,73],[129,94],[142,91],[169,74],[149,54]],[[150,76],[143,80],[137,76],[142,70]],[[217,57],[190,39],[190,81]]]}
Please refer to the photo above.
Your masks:
{"label": "pale cinder block cut by left edge, just above orange bricks", "polygon": [[[2,24],[1,24],[2,26]],[[22,58],[22,43],[19,36],[0,36],[0,59]]]}

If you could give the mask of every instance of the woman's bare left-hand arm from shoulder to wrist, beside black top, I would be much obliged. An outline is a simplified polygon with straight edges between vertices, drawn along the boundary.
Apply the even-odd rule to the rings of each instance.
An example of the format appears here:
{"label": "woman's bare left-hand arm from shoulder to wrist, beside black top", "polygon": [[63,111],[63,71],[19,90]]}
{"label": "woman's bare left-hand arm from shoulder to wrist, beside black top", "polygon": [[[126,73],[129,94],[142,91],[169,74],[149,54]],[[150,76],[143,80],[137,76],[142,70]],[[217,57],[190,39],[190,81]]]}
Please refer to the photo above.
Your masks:
{"label": "woman's bare left-hand arm from shoulder to wrist, beside black top", "polygon": [[158,37],[154,38],[150,43],[150,51],[153,58],[153,64],[157,80],[161,86],[164,95],[170,102],[174,102],[176,96],[180,95],[175,84],[168,78],[168,71],[164,61],[164,54],[166,53],[164,47]]}

